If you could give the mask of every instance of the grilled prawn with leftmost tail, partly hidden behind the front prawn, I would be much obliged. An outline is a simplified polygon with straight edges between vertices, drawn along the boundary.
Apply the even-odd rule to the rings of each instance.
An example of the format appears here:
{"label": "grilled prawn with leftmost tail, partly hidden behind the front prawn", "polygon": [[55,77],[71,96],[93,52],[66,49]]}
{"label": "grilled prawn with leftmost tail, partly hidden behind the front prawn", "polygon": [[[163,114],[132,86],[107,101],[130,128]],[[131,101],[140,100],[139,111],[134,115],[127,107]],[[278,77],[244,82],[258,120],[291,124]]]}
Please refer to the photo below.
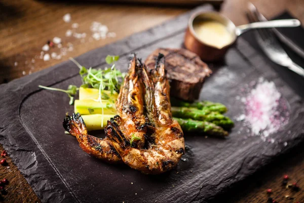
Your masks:
{"label": "grilled prawn with leftmost tail, partly hidden behind the front prawn", "polygon": [[[139,138],[134,141],[132,147],[142,148],[144,145],[144,135],[146,130],[146,117],[144,115],[144,85],[137,74],[137,59],[134,55],[130,62],[129,73],[125,77],[124,84],[117,100],[116,115],[108,122],[116,122],[120,131],[123,132],[128,140],[132,136]],[[72,117],[66,115],[63,121],[63,127],[70,134],[75,136],[80,147],[93,156],[103,159],[107,162],[119,162],[121,157],[112,146],[108,137],[104,139],[96,138],[88,134],[84,120],[80,114],[73,114]]]}

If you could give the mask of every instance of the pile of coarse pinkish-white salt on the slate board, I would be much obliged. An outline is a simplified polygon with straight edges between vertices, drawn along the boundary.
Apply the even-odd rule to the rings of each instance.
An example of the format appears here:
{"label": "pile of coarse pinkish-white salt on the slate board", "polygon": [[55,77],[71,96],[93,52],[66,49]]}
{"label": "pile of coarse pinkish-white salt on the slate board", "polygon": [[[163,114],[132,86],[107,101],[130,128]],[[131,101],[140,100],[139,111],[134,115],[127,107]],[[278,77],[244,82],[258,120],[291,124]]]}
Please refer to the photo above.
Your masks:
{"label": "pile of coarse pinkish-white salt on the slate board", "polygon": [[245,120],[252,134],[265,140],[288,122],[288,109],[280,99],[281,93],[275,83],[260,78],[256,87],[241,99],[245,104],[245,114],[237,120]]}

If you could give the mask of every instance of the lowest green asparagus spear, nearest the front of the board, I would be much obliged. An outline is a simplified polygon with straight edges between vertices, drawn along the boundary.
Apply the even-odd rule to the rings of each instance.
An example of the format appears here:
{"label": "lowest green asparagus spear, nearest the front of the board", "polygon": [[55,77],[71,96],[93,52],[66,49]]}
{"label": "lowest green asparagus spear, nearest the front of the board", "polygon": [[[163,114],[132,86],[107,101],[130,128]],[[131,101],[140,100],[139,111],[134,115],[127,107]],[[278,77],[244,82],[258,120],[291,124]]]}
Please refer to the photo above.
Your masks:
{"label": "lowest green asparagus spear, nearest the front of the board", "polygon": [[228,132],[225,131],[220,126],[217,126],[213,123],[209,123],[207,121],[197,121],[192,119],[183,119],[183,118],[173,118],[176,120],[181,129],[187,132],[205,132],[206,134],[210,134],[212,136],[225,137],[228,136]]}

